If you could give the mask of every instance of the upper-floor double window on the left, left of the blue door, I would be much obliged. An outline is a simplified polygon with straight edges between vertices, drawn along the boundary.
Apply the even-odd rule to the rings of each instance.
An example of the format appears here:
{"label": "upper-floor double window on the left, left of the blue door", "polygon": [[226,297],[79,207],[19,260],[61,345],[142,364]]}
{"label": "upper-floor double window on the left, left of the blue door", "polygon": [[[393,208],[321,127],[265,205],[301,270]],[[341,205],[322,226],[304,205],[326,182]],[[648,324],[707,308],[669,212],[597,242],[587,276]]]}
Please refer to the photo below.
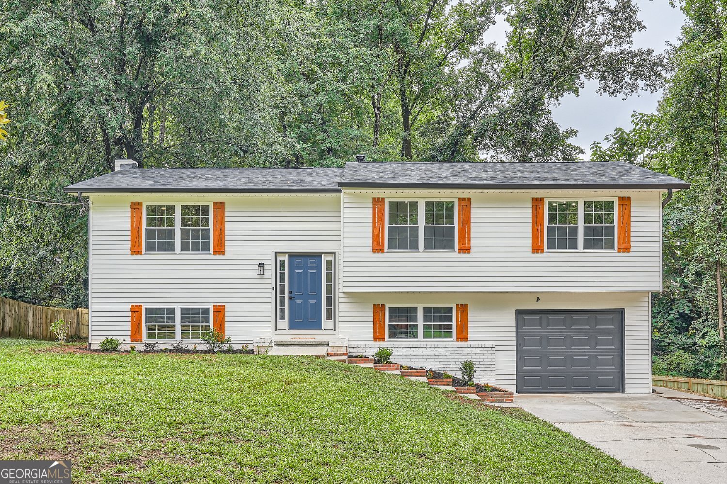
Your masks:
{"label": "upper-floor double window on the left, left of the blue door", "polygon": [[209,204],[147,204],[147,253],[209,253],[212,232]]}

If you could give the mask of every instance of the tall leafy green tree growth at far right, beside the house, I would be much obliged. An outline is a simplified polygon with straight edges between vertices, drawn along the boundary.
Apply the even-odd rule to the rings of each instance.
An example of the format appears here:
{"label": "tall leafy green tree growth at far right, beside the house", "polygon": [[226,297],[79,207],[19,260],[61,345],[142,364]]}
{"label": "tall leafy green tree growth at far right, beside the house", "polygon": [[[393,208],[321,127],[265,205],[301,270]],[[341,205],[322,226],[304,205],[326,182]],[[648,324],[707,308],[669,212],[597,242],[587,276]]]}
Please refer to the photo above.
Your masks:
{"label": "tall leafy green tree growth at far right, beside the house", "polygon": [[687,23],[668,55],[670,77],[654,115],[593,146],[595,159],[631,159],[691,183],[664,210],[664,293],[654,301],[655,354],[666,371],[727,378],[727,50],[725,2],[681,4]]}

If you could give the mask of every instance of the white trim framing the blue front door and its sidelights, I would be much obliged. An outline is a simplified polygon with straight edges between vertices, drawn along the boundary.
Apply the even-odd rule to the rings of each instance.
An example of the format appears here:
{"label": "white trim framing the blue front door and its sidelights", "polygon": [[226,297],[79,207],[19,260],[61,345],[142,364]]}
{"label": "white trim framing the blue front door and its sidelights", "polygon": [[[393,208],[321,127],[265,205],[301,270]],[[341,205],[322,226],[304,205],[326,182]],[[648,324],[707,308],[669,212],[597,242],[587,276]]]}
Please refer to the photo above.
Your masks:
{"label": "white trim framing the blue front door and its sidelights", "polygon": [[[336,254],[332,252],[315,252],[315,251],[303,251],[303,252],[286,252],[286,253],[277,253],[276,254],[276,264],[275,264],[275,274],[273,277],[275,277],[275,317],[276,317],[276,327],[278,330],[290,330],[290,303],[287,296],[290,293],[290,261],[289,256],[290,255],[321,255],[321,322],[322,330],[332,330],[335,327],[336,322],[336,308],[337,308],[337,277],[338,277],[338,271],[336,268]],[[286,304],[285,304],[285,317],[280,317],[280,301],[279,297],[280,294],[280,282],[278,282],[278,275],[280,274],[279,268],[280,268],[280,261],[285,261],[285,290],[286,290]],[[331,317],[326,318],[326,261],[331,261],[333,274],[332,274],[332,311],[331,311]],[[186,306],[185,306],[186,307]],[[300,331],[305,333],[306,330],[294,330],[294,331]]]}

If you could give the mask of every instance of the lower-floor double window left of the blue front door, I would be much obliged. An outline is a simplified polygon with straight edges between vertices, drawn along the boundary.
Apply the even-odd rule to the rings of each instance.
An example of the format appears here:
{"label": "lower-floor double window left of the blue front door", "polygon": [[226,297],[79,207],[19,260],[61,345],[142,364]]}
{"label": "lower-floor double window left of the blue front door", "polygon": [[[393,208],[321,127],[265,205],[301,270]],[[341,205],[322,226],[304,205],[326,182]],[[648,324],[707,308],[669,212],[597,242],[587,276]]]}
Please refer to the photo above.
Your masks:
{"label": "lower-floor double window left of the blue front door", "polygon": [[198,340],[212,327],[209,307],[148,307],[145,310],[146,339]]}

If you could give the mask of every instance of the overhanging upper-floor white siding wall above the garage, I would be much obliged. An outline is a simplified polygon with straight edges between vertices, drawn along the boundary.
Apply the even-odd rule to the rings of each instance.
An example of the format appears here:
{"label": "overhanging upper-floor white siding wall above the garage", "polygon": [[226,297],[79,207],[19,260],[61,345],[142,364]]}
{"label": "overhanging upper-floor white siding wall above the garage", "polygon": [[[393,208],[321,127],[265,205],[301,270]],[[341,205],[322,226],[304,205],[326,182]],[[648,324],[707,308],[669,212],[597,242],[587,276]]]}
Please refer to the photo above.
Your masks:
{"label": "overhanging upper-floor white siding wall above the garage", "polygon": [[[631,252],[531,252],[531,198],[631,197]],[[472,252],[371,253],[371,198],[470,197]],[[659,291],[660,191],[354,191],[343,197],[345,292]]]}

